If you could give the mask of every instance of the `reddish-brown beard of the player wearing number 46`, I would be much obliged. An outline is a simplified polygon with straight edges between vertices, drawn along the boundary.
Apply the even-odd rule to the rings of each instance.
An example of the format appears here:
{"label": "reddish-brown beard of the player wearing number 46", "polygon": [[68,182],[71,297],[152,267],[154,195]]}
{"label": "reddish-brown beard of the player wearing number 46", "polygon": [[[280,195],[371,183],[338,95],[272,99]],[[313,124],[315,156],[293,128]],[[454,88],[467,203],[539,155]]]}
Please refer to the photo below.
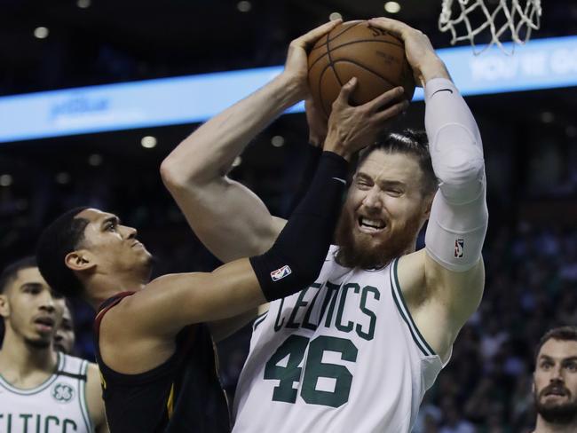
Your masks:
{"label": "reddish-brown beard of the player wearing number 46", "polygon": [[421,229],[421,216],[415,214],[407,219],[402,228],[375,240],[364,233],[356,235],[353,215],[351,212],[342,212],[336,226],[336,261],[347,268],[358,266],[374,269],[388,264],[412,247]]}

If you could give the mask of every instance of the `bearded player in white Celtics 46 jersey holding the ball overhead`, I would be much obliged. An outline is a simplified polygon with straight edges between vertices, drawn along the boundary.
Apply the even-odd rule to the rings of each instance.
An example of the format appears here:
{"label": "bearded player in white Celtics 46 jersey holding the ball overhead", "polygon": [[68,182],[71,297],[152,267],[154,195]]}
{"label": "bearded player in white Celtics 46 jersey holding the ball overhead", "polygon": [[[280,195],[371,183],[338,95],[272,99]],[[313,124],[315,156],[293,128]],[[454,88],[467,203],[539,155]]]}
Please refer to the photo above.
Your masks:
{"label": "bearded player in white Celtics 46 jersey holding the ball overhead", "polygon": [[[429,144],[408,130],[361,154],[319,278],[255,322],[234,431],[410,431],[481,299],[487,211],[477,124],[422,32],[384,18],[369,25],[403,39],[424,87]],[[318,37],[313,30],[293,41],[281,75],[163,162],[189,223],[225,262],[265,250],[284,224],[225,173],[269,122],[307,98],[306,50]],[[312,141],[372,143],[382,132],[383,105],[350,106],[354,85],[344,86],[328,125],[308,106]],[[426,248],[415,252],[427,219]]]}

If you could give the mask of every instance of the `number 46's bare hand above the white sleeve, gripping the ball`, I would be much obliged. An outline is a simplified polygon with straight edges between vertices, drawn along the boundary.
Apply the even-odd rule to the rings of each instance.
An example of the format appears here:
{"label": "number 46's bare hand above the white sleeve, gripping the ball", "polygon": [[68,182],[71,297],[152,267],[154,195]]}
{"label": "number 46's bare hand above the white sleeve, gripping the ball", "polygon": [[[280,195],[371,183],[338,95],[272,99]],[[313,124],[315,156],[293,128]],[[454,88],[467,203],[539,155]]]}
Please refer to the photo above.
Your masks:
{"label": "number 46's bare hand above the white sleeve, gripping the ball", "polygon": [[431,41],[422,31],[407,26],[407,24],[390,18],[372,18],[368,24],[399,36],[405,43],[405,54],[409,65],[413,68],[415,83],[424,86],[431,78],[447,78],[451,76],[443,60],[435,52]]}

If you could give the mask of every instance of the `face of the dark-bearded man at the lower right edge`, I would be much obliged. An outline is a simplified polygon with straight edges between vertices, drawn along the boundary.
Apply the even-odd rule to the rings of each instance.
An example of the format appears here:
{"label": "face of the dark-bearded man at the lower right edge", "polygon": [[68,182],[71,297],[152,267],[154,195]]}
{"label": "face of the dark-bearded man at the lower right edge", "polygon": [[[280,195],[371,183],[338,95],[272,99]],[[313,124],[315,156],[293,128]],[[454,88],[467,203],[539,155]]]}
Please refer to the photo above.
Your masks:
{"label": "face of the dark-bearded man at the lower right edge", "polygon": [[550,339],[537,356],[534,400],[545,421],[577,419],[577,341]]}

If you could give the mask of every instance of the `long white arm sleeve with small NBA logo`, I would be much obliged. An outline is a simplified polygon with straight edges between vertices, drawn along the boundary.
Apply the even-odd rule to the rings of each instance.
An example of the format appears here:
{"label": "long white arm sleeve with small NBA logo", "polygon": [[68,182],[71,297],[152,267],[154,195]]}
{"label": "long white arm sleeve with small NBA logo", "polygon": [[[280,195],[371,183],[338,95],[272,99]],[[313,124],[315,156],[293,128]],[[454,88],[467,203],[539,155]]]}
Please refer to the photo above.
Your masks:
{"label": "long white arm sleeve with small NBA logo", "polygon": [[485,161],[477,123],[451,81],[425,85],[425,129],[439,178],[425,235],[426,250],[454,272],[478,263],[485,240]]}

